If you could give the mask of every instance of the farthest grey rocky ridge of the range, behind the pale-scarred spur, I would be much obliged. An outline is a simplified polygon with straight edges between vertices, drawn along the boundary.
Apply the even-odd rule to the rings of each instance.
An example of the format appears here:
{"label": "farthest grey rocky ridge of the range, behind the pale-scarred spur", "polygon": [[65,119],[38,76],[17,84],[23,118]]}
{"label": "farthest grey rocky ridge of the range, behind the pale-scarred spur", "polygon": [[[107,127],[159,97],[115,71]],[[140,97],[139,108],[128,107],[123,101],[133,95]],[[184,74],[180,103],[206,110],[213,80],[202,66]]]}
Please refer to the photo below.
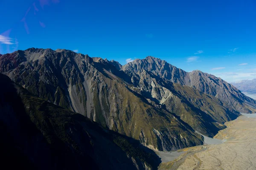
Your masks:
{"label": "farthest grey rocky ridge of the range, behind the pale-scarred spur", "polygon": [[154,75],[169,79],[180,85],[187,85],[192,88],[215,96],[221,102],[231,105],[236,111],[243,113],[255,113],[256,101],[242,94],[237,88],[225,82],[221,78],[202,71],[186,72],[164,60],[146,57],[136,59],[122,67],[125,72],[136,74],[140,70],[150,71]]}

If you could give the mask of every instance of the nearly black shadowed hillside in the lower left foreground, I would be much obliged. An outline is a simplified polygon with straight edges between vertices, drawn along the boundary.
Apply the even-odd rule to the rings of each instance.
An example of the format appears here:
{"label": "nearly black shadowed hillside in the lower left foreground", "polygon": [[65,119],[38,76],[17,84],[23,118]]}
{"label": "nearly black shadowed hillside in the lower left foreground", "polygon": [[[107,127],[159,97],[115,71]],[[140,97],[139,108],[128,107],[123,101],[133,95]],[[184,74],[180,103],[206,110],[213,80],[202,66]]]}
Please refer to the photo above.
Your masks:
{"label": "nearly black shadowed hillside in the lower left foreground", "polygon": [[139,141],[33,96],[3,74],[0,82],[1,166],[154,170],[160,164]]}

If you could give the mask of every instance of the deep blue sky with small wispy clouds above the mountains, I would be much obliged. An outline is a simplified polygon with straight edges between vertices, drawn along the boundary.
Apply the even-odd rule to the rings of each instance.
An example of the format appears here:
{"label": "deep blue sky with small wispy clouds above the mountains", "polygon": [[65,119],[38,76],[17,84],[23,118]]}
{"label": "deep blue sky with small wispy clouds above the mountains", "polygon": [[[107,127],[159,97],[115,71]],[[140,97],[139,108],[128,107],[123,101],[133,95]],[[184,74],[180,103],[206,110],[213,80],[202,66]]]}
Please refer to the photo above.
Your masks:
{"label": "deep blue sky with small wispy clouds above the mountains", "polygon": [[0,0],[0,54],[65,48],[122,65],[154,56],[228,82],[256,78],[255,0]]}

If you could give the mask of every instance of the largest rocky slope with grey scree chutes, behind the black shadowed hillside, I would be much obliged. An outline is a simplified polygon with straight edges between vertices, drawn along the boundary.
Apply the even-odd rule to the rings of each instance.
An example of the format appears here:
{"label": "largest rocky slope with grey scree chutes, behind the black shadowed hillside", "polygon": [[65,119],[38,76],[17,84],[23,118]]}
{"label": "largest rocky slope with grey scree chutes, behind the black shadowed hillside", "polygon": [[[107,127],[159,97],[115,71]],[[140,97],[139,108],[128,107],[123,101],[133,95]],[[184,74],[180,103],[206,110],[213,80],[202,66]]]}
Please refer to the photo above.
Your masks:
{"label": "largest rocky slope with grey scree chutes, behind the black shadowed hillside", "polygon": [[131,90],[131,77],[112,63],[69,50],[29,48],[0,57],[0,72],[31,93],[155,150],[202,144],[186,122]]}

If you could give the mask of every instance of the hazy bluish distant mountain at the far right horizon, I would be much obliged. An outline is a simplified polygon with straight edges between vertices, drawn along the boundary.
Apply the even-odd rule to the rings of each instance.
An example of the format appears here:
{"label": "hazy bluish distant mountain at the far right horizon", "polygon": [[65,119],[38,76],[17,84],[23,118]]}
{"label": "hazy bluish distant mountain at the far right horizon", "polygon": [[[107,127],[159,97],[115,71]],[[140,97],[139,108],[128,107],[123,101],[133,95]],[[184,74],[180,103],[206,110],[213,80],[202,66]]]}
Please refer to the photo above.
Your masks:
{"label": "hazy bluish distant mountain at the far right horizon", "polygon": [[240,82],[232,82],[231,84],[233,84],[240,91],[256,94],[256,79],[242,80]]}

